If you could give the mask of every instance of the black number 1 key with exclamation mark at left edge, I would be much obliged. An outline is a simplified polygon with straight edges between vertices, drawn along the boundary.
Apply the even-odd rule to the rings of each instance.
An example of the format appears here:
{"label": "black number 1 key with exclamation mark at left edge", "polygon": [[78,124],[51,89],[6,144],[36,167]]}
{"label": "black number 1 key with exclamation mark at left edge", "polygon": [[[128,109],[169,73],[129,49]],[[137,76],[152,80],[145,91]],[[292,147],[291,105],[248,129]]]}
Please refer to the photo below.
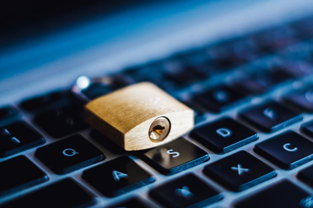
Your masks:
{"label": "black number 1 key with exclamation mark at left edge", "polygon": [[0,127],[0,157],[8,157],[45,142],[44,137],[26,122]]}

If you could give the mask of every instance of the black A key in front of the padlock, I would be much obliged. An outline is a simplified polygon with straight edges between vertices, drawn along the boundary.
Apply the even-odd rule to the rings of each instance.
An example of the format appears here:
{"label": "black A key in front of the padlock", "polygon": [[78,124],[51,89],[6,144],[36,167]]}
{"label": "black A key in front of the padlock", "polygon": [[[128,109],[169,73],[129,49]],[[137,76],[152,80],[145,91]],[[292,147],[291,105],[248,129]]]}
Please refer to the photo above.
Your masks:
{"label": "black A key in front of the padlock", "polygon": [[82,178],[108,197],[115,197],[155,181],[127,156],[105,162],[83,172]]}

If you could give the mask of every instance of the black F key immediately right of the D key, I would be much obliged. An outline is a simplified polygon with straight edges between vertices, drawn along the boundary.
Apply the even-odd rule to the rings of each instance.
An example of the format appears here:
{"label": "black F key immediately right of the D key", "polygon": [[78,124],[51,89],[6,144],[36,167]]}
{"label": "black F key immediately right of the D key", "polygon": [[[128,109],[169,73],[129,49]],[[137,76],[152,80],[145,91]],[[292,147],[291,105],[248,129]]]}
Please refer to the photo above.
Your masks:
{"label": "black F key immediately right of the D key", "polygon": [[239,115],[242,119],[268,133],[273,133],[302,120],[301,114],[274,102],[252,107]]}

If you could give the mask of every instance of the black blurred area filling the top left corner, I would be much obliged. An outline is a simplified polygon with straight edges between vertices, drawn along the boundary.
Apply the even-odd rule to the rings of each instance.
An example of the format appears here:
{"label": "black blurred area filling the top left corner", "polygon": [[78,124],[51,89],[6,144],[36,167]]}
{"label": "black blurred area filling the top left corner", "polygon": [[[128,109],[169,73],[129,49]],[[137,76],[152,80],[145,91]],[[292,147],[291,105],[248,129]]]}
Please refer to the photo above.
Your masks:
{"label": "black blurred area filling the top left corner", "polygon": [[0,47],[154,0],[6,0],[0,3]]}

